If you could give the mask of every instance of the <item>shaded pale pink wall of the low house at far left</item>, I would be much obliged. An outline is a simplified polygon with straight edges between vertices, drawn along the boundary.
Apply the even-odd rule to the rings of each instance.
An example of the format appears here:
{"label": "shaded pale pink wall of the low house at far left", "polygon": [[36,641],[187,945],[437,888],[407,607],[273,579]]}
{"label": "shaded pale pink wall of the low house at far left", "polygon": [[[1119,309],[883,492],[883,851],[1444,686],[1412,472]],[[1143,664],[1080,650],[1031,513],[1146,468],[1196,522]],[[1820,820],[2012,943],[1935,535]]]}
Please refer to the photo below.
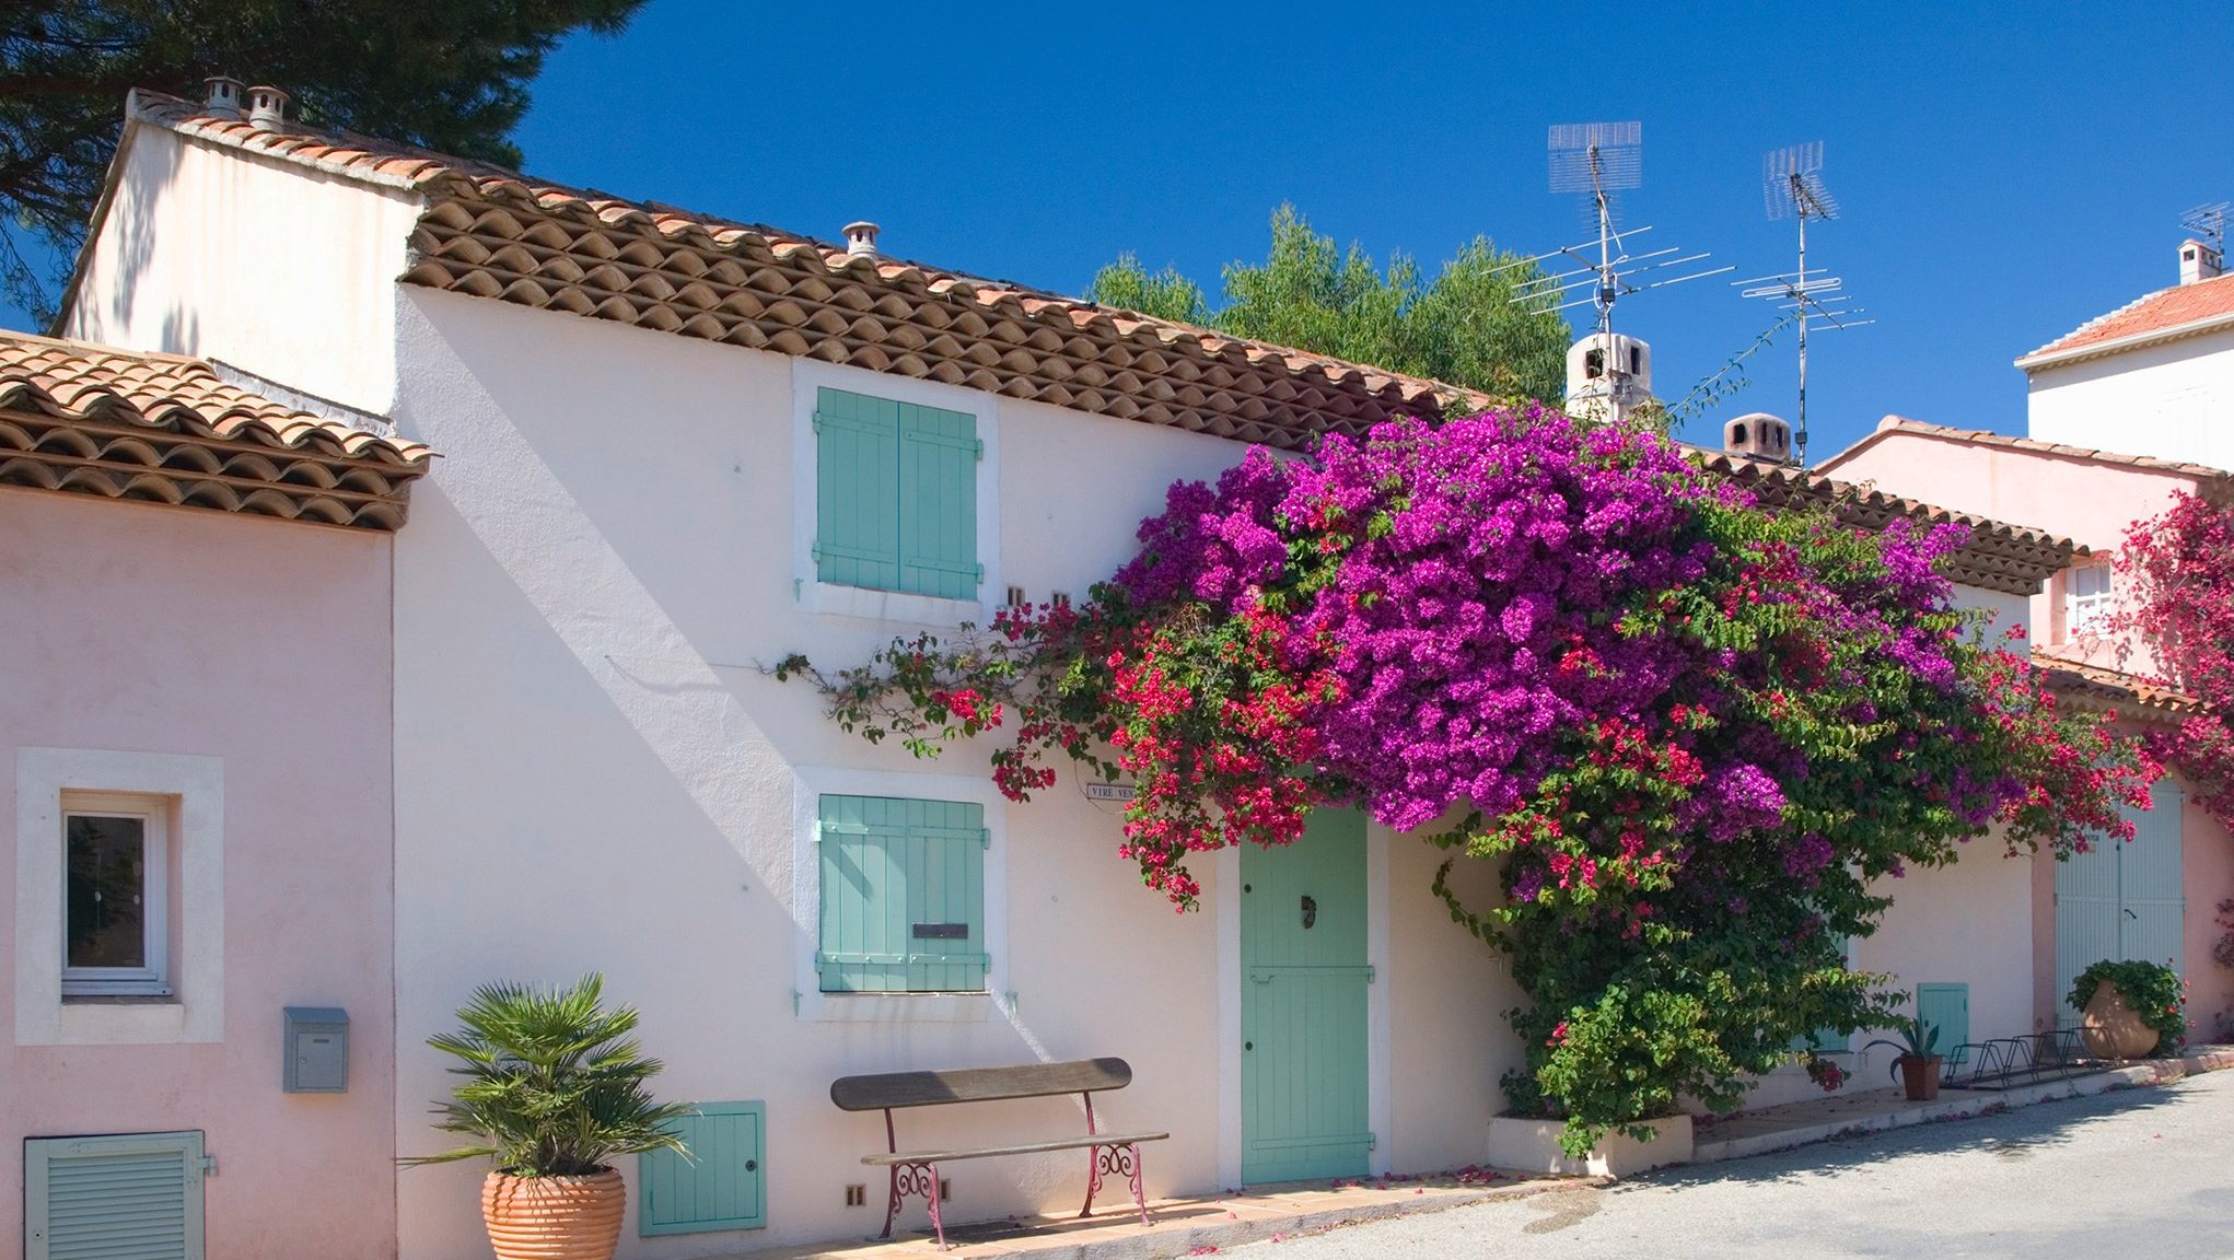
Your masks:
{"label": "shaded pale pink wall of the low house at far left", "polygon": [[[389,559],[386,534],[0,489],[0,820],[27,746],[223,757],[226,802],[223,1041],[18,1046],[0,1001],[0,1251],[22,1137],[199,1128],[208,1256],[393,1256]],[[13,916],[9,889],[7,983]],[[346,1095],[281,1092],[286,1005],[349,1010]]]}

